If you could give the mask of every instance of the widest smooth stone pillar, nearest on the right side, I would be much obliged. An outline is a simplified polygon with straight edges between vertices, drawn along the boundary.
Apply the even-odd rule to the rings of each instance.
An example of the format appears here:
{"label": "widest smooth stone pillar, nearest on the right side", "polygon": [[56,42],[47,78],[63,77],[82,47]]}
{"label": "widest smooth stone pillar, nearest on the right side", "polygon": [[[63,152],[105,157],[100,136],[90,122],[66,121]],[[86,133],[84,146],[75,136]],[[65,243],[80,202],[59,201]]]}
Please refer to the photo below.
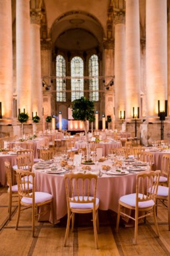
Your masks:
{"label": "widest smooth stone pillar, nearest on the right side", "polygon": [[146,1],[146,88],[151,119],[167,100],[167,0]]}

